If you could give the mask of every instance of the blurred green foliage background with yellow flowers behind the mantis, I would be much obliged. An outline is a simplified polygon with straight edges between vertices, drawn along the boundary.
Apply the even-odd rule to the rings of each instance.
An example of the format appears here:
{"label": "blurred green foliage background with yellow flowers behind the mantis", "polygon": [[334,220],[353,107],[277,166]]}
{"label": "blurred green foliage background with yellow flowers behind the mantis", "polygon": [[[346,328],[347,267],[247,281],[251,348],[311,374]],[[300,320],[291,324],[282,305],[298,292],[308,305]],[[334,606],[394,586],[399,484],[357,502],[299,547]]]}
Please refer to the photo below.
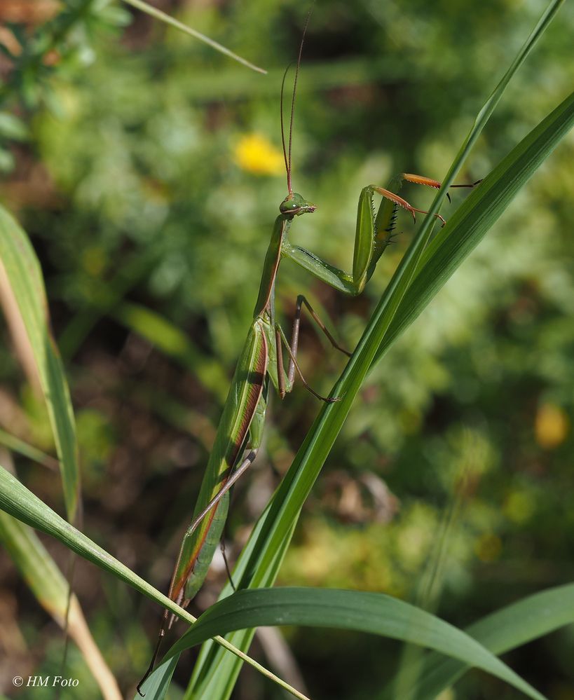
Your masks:
{"label": "blurred green foliage background with yellow flowers behind the mantis", "polygon": [[[6,165],[15,162],[1,196],[41,257],[69,367],[86,527],[160,587],[193,507],[285,196],[285,176],[270,164],[280,153],[280,79],[306,13],[278,0],[169,5],[268,76],[137,15],[123,35],[109,31],[117,21],[96,23],[83,54],[89,60],[50,71],[49,95],[32,102],[25,84],[14,83],[8,104],[19,100],[16,116],[0,114],[0,135],[13,143]],[[441,177],[543,6],[317,3],[303,51],[293,177],[318,209],[296,222],[296,240],[348,267],[360,188],[403,170]],[[570,90],[573,30],[566,4],[489,123],[468,181]],[[268,172],[242,160],[253,135],[266,144],[254,158]],[[572,580],[573,156],[570,136],[371,373],[303,514],[282,582],[385,591],[462,626]],[[432,196],[412,186],[404,192],[421,207]],[[454,191],[451,206],[462,196]],[[281,313],[289,319],[304,291],[352,347],[411,226],[399,219],[404,233],[356,300],[286,262]],[[28,394],[15,363],[1,352],[6,391],[23,406],[28,437],[46,448],[36,404],[22,401]],[[327,390],[341,358],[308,326],[300,352],[310,383]],[[236,489],[230,538],[245,537],[275,483],[269,465],[288,467],[315,411],[301,389],[274,403],[266,455]],[[0,420],[18,432],[14,420]],[[41,472],[30,479],[36,493],[58,499],[55,481]],[[79,597],[128,689],[146,666],[144,629],[153,632],[158,611],[79,568]],[[214,574],[199,605],[220,581]],[[32,608],[26,615],[40,617],[20,584],[18,594]],[[36,652],[46,645],[31,626],[23,633]],[[289,637],[317,698],[376,696],[400,659],[395,643],[332,631]],[[566,699],[574,697],[573,652],[565,630],[509,656],[542,692]],[[255,696],[253,682],[245,673],[244,695]],[[453,694],[484,696],[515,693],[471,673]]]}

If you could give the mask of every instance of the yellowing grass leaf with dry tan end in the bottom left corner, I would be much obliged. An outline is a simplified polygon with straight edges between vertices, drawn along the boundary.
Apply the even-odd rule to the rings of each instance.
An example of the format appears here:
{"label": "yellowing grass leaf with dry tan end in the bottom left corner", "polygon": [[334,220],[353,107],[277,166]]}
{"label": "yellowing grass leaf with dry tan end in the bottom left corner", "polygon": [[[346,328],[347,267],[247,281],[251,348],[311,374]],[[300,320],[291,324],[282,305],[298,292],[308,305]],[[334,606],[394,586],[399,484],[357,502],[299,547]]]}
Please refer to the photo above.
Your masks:
{"label": "yellowing grass leaf with dry tan end in the bottom left corner", "polygon": [[86,659],[104,698],[121,700],[116,679],[93,640],[76,596],[71,596],[69,600],[68,582],[36,533],[7,513],[0,512],[0,542],[36,600],[60,627],[66,627]]}

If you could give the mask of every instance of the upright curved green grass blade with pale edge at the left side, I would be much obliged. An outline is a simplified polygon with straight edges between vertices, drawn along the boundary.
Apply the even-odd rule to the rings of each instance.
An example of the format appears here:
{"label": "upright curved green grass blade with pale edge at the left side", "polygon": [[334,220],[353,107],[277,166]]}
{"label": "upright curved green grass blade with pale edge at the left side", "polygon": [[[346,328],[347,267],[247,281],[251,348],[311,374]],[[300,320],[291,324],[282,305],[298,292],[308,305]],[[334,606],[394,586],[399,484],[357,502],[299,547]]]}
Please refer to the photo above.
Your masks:
{"label": "upright curved green grass blade with pale edge at the left side", "polygon": [[78,512],[80,473],[74,412],[60,354],[50,334],[48,302],[34,249],[20,225],[0,205],[0,261],[38,369],[64,489],[66,512],[74,522]]}

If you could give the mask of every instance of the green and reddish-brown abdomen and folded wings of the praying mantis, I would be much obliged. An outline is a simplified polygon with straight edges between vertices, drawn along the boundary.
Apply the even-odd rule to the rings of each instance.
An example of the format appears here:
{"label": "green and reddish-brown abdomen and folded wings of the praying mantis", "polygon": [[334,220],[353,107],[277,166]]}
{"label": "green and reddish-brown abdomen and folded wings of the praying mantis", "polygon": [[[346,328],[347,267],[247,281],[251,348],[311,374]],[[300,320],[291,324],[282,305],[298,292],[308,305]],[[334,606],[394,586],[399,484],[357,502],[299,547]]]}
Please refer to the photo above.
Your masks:
{"label": "green and reddish-brown abdomen and folded wings of the praying mantis", "polygon": [[[245,340],[221,416],[214,446],[203,476],[193,519],[217,496],[239,462],[263,391],[268,343],[261,320],[254,320]],[[221,538],[228,493],[195,530],[186,531],[172,577],[170,598],[182,603],[196,595]]]}

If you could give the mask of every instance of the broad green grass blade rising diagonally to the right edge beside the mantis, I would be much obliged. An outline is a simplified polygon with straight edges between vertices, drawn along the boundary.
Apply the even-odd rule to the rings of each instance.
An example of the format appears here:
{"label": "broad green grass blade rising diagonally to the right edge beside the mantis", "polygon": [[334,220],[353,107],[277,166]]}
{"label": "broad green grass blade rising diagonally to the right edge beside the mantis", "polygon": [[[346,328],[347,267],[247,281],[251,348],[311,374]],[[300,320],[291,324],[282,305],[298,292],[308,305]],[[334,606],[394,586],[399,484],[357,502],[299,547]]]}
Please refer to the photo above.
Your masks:
{"label": "broad green grass blade rising diagonally to the right edge beside the mantis", "polygon": [[[278,556],[277,553],[284,551],[289,542],[289,529],[296,522],[299,510],[339,434],[372,358],[381,354],[378,348],[388,348],[399,331],[404,330],[416,318],[440,284],[446,281],[465,254],[470,252],[493,222],[500,217],[520,186],[549,155],[573,123],[574,95],[570,95],[496,167],[483,183],[485,186],[472,193],[442,233],[431,243],[422,256],[420,271],[406,291],[397,314],[392,317],[392,324],[386,326],[389,329],[388,334],[384,333],[388,317],[383,316],[381,321],[380,313],[374,315],[362,343],[334,389],[333,393],[341,396],[341,401],[327,404],[321,409],[292,467],[275,494],[270,509],[263,516],[261,527],[254,532],[247,549],[242,553],[240,571],[245,570],[249,575],[242,576],[235,572],[235,579],[239,580],[240,588],[261,588],[273,584],[273,561]],[[473,216],[478,214],[477,223]],[[223,595],[229,592],[226,589]],[[234,636],[231,639],[238,643]],[[217,667],[218,676],[226,675],[221,671],[219,657],[217,652],[217,659],[214,657],[211,663],[215,664],[214,668]],[[205,672],[204,659],[207,657],[200,659],[193,675],[188,697],[216,696],[210,686],[211,675]],[[238,665],[234,659],[221,663],[234,666],[233,673],[238,672]],[[202,686],[201,693],[198,684]]]}

